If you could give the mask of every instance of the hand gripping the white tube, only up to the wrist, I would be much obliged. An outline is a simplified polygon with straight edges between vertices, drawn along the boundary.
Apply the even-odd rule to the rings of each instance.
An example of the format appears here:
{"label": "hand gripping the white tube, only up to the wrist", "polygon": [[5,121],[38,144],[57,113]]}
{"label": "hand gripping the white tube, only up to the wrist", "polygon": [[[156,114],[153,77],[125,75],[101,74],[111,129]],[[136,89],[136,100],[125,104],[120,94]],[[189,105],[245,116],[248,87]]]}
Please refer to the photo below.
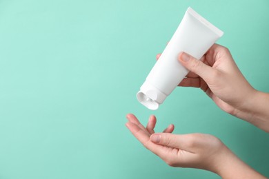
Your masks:
{"label": "hand gripping the white tube, only up to the wrist", "polygon": [[221,109],[230,114],[240,116],[239,109],[243,108],[247,97],[255,93],[229,50],[221,45],[213,45],[201,61],[186,53],[179,54],[179,61],[191,71],[179,85],[201,87]]}

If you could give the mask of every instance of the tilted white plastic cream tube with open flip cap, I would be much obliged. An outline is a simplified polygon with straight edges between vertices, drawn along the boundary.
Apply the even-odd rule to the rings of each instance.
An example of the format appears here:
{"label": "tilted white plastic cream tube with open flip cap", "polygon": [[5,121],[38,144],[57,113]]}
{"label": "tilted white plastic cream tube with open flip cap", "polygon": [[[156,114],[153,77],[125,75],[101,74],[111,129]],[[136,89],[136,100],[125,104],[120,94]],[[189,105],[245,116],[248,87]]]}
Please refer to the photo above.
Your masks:
{"label": "tilted white plastic cream tube with open flip cap", "polygon": [[222,35],[221,30],[188,8],[166,49],[141,85],[138,101],[148,109],[158,109],[188,74],[188,70],[177,61],[179,53],[186,52],[201,59]]}

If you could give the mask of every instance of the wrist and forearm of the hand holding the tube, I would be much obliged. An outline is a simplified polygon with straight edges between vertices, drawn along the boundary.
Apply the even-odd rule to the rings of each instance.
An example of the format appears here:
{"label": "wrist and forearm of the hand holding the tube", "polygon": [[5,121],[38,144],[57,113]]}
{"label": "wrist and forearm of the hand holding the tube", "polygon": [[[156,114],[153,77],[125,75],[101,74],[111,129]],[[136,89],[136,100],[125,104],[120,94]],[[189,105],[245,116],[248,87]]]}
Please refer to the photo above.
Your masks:
{"label": "wrist and forearm of the hand holding the tube", "polygon": [[246,96],[245,103],[235,116],[269,132],[269,94],[255,90],[253,95]]}

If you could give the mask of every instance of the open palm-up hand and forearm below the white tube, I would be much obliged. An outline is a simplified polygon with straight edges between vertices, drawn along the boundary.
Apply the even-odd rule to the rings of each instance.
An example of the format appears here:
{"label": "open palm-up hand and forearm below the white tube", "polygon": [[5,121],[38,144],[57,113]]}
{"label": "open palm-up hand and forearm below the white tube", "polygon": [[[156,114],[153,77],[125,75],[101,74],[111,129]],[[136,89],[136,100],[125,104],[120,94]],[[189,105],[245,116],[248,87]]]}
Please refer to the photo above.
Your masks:
{"label": "open palm-up hand and forearm below the white tube", "polygon": [[173,125],[169,125],[163,133],[155,134],[155,116],[150,116],[146,128],[133,114],[126,117],[126,126],[137,140],[172,167],[206,169],[223,178],[263,178],[215,136],[170,134],[174,129]]}

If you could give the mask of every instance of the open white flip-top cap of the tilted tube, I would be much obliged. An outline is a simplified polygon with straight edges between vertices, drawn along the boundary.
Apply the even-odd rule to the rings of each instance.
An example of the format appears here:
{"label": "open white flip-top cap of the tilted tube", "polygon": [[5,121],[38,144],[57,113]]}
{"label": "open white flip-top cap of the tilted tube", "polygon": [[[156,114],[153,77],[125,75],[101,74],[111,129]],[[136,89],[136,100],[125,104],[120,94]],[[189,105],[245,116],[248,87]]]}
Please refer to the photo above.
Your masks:
{"label": "open white flip-top cap of the tilted tube", "polygon": [[166,99],[166,94],[161,92],[155,86],[145,81],[137,93],[137,100],[148,109],[156,110],[159,105]]}

